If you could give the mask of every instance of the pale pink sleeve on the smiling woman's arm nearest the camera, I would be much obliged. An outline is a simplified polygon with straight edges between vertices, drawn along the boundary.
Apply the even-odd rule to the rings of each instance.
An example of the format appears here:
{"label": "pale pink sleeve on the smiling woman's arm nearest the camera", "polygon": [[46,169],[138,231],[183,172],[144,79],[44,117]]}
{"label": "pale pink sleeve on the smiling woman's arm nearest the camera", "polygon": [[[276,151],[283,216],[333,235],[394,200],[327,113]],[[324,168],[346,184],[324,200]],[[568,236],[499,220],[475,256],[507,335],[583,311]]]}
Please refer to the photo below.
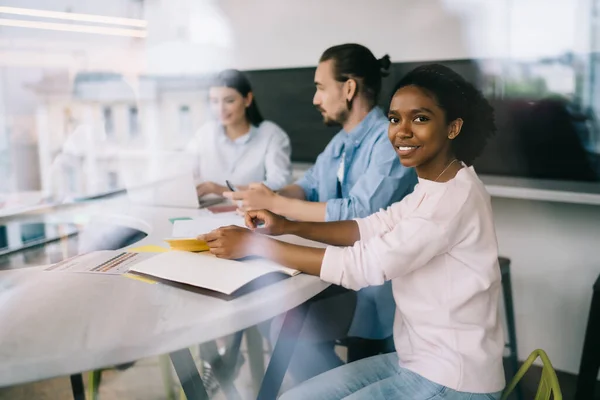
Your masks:
{"label": "pale pink sleeve on the smiling woman's arm nearest the camera", "polygon": [[352,290],[382,285],[446,251],[443,225],[425,218],[402,220],[391,232],[352,247],[327,247],[321,279]]}

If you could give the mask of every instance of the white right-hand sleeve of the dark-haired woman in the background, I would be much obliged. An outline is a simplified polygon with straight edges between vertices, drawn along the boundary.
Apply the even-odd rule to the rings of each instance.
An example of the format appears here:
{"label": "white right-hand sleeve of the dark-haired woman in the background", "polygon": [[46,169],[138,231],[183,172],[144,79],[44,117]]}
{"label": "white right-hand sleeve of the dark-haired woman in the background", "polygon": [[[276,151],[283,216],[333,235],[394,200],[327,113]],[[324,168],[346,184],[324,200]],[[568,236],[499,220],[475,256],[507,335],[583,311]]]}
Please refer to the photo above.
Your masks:
{"label": "white right-hand sleeve of the dark-haired woman in the background", "polygon": [[265,154],[265,181],[263,182],[271,190],[279,190],[292,178],[292,148],[290,138],[278,126]]}

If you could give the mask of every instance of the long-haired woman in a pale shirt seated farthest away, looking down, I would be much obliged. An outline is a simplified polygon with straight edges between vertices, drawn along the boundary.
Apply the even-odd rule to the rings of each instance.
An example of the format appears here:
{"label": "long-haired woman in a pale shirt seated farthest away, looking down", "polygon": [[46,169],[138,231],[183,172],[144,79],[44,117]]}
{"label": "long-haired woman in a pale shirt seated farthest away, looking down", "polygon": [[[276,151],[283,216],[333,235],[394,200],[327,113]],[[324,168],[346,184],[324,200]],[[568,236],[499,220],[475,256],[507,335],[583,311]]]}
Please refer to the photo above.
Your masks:
{"label": "long-haired woman in a pale shirt seated farthest away, looking down", "polygon": [[263,119],[250,82],[238,70],[220,72],[209,89],[214,121],[204,125],[188,144],[196,155],[199,196],[222,195],[225,180],[244,187],[262,182],[281,189],[292,177],[288,135]]}

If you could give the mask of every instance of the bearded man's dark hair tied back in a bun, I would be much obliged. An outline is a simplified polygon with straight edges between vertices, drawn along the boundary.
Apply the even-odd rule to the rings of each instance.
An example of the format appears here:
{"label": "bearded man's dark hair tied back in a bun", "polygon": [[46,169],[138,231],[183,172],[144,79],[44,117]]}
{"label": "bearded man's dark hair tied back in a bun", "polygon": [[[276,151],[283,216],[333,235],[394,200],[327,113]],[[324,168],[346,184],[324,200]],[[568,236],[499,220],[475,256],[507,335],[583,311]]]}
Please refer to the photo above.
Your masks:
{"label": "bearded man's dark hair tied back in a bun", "polygon": [[358,92],[363,93],[372,104],[377,103],[381,78],[388,75],[391,66],[390,56],[386,54],[377,59],[365,46],[347,43],[325,50],[319,62],[328,60],[333,60],[336,81],[358,80]]}

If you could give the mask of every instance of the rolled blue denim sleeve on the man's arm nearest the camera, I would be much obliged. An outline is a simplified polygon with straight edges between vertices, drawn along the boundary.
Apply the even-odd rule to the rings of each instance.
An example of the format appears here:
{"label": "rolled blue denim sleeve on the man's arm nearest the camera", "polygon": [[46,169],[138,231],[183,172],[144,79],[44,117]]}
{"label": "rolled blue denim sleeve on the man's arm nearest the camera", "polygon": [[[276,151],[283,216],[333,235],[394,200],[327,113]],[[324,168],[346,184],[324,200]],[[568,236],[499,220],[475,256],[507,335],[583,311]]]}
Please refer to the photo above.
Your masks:
{"label": "rolled blue denim sleeve on the man's arm nearest the camera", "polygon": [[364,218],[402,200],[412,191],[417,182],[414,169],[403,167],[389,147],[389,143],[374,147],[372,162],[347,198],[327,201],[325,221]]}

